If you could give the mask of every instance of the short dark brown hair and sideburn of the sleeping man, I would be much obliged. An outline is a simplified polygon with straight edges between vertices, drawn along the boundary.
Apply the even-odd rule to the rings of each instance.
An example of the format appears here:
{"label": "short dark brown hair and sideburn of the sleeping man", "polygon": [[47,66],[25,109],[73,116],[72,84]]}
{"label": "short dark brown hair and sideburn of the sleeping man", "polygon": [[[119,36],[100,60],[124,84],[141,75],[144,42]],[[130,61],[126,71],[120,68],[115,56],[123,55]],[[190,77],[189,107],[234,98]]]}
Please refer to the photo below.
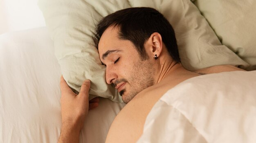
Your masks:
{"label": "short dark brown hair and sideburn of the sleeping man", "polygon": [[97,24],[95,33],[92,36],[97,48],[103,32],[110,26],[119,28],[119,38],[131,41],[141,55],[142,60],[148,58],[144,43],[154,32],[158,32],[162,36],[162,41],[173,60],[180,62],[173,27],[164,15],[156,9],[134,7],[122,9],[103,17]]}

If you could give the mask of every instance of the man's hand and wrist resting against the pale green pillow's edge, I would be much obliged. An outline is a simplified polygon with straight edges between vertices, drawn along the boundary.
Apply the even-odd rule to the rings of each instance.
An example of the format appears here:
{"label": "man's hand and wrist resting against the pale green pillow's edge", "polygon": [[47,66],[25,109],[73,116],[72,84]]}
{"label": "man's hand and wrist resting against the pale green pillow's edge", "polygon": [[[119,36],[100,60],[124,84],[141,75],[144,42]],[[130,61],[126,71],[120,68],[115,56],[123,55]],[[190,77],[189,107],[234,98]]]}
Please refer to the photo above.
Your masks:
{"label": "man's hand and wrist resting against the pale green pillow's edge", "polygon": [[61,117],[62,128],[61,138],[65,141],[79,141],[79,133],[83,128],[85,117],[88,110],[96,108],[99,105],[99,98],[94,98],[89,102],[90,80],[85,80],[81,86],[80,92],[76,95],[67,85],[67,82],[61,76]]}

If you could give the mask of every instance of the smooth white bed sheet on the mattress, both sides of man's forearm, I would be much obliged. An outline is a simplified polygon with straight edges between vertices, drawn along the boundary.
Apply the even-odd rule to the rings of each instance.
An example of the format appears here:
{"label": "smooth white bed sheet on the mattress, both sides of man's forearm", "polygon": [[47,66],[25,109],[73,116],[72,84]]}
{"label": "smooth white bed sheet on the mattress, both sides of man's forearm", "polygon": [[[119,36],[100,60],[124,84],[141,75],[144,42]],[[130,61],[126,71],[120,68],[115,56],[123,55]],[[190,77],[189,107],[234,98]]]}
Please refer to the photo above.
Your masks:
{"label": "smooth white bed sheet on the mattress, both sides of man's forearm", "polygon": [[[0,142],[54,143],[61,131],[61,68],[47,28],[0,35]],[[124,103],[100,98],[80,141],[103,143]]]}

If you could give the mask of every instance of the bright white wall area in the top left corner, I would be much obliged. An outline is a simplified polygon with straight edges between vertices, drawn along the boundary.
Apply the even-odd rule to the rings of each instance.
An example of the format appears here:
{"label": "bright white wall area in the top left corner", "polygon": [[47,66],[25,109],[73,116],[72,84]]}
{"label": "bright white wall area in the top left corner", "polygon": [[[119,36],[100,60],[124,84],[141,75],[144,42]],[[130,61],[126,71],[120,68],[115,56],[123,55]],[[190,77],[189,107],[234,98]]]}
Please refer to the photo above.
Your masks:
{"label": "bright white wall area in the top left corner", "polygon": [[0,34],[45,26],[38,0],[0,0]]}

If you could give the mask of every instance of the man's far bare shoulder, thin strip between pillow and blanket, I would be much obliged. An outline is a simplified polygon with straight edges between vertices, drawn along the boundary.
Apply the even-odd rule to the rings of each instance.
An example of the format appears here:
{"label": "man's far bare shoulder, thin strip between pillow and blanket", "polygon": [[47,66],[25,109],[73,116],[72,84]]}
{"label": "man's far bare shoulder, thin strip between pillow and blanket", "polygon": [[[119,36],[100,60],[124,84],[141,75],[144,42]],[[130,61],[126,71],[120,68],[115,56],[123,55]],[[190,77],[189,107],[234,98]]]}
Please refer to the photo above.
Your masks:
{"label": "man's far bare shoulder, thin strip between pillow and blanket", "polygon": [[245,71],[233,65],[216,65],[212,67],[207,67],[204,69],[198,69],[195,72],[201,72],[205,74],[219,73],[219,72],[232,72],[232,71]]}

